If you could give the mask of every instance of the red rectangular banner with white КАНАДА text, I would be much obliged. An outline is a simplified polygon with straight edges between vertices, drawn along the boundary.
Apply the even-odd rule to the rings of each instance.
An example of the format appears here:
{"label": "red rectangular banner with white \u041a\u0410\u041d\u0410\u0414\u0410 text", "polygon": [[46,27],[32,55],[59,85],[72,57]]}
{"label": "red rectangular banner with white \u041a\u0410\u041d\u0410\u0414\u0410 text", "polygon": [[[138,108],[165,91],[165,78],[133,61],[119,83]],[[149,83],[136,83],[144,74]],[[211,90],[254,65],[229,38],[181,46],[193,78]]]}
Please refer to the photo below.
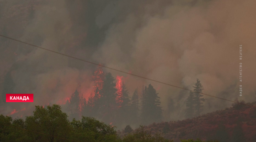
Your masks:
{"label": "red rectangular banner with white \u041a\u0410\u041d\u0410\u0414\u0410 text", "polygon": [[34,102],[34,94],[6,94],[6,102]]}

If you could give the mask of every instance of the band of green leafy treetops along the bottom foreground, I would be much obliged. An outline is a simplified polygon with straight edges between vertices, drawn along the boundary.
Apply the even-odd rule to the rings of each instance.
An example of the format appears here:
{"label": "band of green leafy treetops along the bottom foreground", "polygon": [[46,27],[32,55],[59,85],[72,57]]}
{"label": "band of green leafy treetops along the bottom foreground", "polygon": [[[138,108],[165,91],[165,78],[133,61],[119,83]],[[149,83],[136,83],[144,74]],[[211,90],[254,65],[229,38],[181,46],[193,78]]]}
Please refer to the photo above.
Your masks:
{"label": "band of green leafy treetops along the bottom foreground", "polygon": [[[25,121],[0,115],[0,142],[173,142],[165,139],[160,133],[152,135],[143,126],[132,131],[128,125],[125,131],[129,134],[123,138],[118,138],[115,129],[115,126],[92,117],[82,116],[81,120],[73,119],[69,122],[67,114],[61,111],[59,105],[47,108],[35,106],[33,115],[26,117]],[[234,134],[239,133],[239,130],[241,129]]]}

